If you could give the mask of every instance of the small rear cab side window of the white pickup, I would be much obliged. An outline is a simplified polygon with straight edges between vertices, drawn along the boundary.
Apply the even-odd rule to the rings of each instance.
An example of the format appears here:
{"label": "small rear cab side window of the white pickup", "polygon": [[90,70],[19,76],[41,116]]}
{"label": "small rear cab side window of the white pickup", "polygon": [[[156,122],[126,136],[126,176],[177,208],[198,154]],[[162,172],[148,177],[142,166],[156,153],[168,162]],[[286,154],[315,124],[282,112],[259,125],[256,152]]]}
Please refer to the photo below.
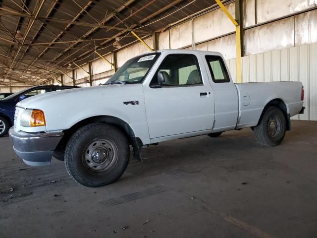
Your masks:
{"label": "small rear cab side window of the white pickup", "polygon": [[219,56],[206,56],[206,60],[211,73],[212,81],[215,83],[228,83],[230,78],[224,66],[222,58]]}

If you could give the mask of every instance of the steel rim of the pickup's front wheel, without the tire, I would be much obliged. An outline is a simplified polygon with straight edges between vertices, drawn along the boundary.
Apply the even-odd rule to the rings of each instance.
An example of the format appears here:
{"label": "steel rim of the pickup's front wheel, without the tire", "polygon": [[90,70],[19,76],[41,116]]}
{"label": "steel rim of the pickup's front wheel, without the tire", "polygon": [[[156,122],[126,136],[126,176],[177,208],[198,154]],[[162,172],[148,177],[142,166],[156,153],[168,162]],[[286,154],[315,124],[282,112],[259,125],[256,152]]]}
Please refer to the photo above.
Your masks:
{"label": "steel rim of the pickup's front wheel, without the tire", "polygon": [[118,161],[118,147],[107,139],[91,141],[85,147],[83,154],[84,166],[93,172],[108,172]]}

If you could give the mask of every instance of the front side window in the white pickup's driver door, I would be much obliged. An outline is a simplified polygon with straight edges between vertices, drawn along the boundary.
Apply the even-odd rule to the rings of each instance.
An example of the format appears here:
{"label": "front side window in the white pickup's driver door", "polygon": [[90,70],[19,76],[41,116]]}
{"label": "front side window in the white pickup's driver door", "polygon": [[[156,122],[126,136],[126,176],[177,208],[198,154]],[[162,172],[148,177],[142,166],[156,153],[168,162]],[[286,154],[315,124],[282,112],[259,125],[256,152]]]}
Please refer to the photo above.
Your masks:
{"label": "front side window in the white pickup's driver door", "polygon": [[162,86],[203,84],[197,58],[189,54],[172,54],[159,65],[150,86],[158,84],[158,72],[163,71],[166,80]]}

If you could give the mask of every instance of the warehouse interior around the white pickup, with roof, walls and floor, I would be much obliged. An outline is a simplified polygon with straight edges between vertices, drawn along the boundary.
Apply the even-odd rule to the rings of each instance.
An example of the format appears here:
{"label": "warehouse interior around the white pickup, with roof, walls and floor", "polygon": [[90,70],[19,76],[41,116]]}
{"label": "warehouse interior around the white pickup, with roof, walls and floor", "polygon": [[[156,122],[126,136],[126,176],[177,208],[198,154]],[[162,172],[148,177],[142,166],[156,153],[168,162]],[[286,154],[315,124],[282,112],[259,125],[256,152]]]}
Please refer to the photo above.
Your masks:
{"label": "warehouse interior around the white pickup, with roof, walls and floor", "polygon": [[162,142],[98,188],[58,160],[25,165],[6,135],[0,237],[316,237],[317,0],[0,2],[3,95],[99,87],[168,49],[221,53],[235,83],[300,81],[305,112],[279,146],[259,146],[249,128]]}

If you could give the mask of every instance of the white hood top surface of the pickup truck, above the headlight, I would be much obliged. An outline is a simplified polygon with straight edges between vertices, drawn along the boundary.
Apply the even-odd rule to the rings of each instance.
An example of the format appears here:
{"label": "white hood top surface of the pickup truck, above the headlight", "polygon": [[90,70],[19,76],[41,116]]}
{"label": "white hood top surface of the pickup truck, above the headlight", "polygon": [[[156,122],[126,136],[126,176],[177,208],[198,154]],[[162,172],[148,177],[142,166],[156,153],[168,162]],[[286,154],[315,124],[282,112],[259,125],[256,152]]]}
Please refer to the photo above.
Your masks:
{"label": "white hood top surface of the pickup truck, above the headlight", "polygon": [[83,87],[74,89],[65,89],[36,95],[19,102],[16,106],[29,109],[43,109],[46,105],[52,104],[54,101],[63,101],[63,103],[71,105],[82,100],[89,100],[92,97],[100,99],[111,97],[120,90],[121,87],[132,86],[123,84],[101,85],[96,87]]}

